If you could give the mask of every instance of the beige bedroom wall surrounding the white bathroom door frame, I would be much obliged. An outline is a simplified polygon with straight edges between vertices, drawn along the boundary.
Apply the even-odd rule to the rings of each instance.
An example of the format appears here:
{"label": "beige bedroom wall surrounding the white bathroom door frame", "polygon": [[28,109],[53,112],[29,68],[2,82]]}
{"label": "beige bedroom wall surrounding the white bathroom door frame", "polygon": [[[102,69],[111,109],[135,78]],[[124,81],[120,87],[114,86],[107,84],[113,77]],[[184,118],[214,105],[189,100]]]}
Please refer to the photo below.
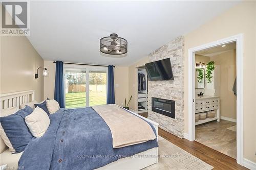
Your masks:
{"label": "beige bedroom wall surrounding the white bathroom door frame", "polygon": [[188,133],[188,49],[243,33],[244,157],[256,162],[256,2],[244,1],[185,35],[185,133]]}

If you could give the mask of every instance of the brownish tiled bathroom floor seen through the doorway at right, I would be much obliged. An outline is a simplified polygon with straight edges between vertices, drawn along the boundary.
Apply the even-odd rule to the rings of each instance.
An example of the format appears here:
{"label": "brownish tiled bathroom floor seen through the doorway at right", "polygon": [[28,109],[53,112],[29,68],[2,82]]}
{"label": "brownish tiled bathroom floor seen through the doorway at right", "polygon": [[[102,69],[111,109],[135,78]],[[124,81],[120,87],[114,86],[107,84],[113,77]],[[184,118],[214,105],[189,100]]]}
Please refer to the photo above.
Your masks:
{"label": "brownish tiled bathroom floor seen through the doorway at right", "polygon": [[236,123],[227,120],[196,126],[196,141],[234,159],[237,158],[237,132],[228,130]]}

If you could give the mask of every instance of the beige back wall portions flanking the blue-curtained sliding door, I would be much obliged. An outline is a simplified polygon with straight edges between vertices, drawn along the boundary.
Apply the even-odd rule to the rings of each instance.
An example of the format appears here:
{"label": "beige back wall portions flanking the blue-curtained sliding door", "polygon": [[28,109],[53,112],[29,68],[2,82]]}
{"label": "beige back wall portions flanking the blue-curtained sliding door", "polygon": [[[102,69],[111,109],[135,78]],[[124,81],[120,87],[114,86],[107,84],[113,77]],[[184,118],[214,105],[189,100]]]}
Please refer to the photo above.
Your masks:
{"label": "beige back wall portions flanking the blue-curtained sliding door", "polygon": [[[44,80],[44,98],[54,99],[55,64],[53,61],[45,61],[45,67],[49,70],[49,76]],[[128,98],[128,67],[116,66],[114,68],[115,101],[124,105],[124,99]]]}

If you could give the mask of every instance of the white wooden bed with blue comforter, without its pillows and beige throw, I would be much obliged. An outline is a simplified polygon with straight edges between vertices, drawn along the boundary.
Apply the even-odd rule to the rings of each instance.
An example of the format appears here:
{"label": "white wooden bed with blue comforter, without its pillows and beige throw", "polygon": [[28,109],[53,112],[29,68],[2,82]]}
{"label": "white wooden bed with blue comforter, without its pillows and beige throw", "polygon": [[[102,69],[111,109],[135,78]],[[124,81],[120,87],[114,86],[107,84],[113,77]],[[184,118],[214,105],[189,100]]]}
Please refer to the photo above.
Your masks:
{"label": "white wooden bed with blue comforter, without its pillows and beige throw", "polygon": [[[8,107],[19,107],[22,103],[34,100],[34,90],[26,91],[26,94],[24,91],[1,94],[0,97],[2,110]],[[125,111],[127,114],[133,114],[145,120],[150,124],[155,135],[158,135],[157,123],[129,110]],[[49,116],[51,125],[46,134],[41,138],[32,139],[22,154],[11,154],[8,150],[1,153],[1,165],[7,164],[9,168],[19,165],[25,169],[142,169],[158,163],[158,139],[155,139],[155,142],[151,140],[113,149],[110,147],[112,144],[110,143],[112,141],[111,132],[108,131],[108,127],[104,127],[106,126],[104,125],[104,120],[94,112],[95,110],[91,107],[70,110],[60,109],[58,113],[56,112]],[[78,126],[80,129],[72,128],[75,127],[74,124],[78,124],[79,121],[76,122],[78,119],[83,123],[88,122],[80,124]],[[69,122],[67,125],[70,126],[70,129],[64,130],[63,128],[65,128],[65,123],[67,122]],[[81,127],[85,124],[88,125],[86,128]],[[87,130],[84,131],[84,129]],[[76,132],[79,133],[76,134]],[[65,133],[66,135],[70,134],[70,137],[63,137]],[[104,140],[102,138],[99,139],[99,136],[103,136]],[[86,147],[86,145],[82,144],[82,141],[90,145],[90,147]],[[94,157],[88,158],[88,155],[89,157],[90,155]],[[97,158],[95,158],[95,155]],[[110,155],[113,156],[105,158],[104,156],[106,155],[108,157]],[[34,162],[33,166],[31,161]]]}

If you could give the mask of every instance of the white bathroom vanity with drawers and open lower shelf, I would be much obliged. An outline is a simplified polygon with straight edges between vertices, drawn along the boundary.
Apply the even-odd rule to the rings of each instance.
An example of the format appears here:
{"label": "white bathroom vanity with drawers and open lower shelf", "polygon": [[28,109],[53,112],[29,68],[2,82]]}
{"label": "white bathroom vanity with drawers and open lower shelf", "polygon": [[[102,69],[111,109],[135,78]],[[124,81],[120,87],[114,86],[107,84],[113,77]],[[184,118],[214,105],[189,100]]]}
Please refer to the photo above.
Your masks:
{"label": "white bathroom vanity with drawers and open lower shelf", "polygon": [[206,118],[204,120],[199,120],[196,125],[200,125],[212,120],[217,120],[220,122],[220,98],[219,96],[197,96],[195,102],[195,112],[205,112],[215,110],[216,114],[214,118]]}

